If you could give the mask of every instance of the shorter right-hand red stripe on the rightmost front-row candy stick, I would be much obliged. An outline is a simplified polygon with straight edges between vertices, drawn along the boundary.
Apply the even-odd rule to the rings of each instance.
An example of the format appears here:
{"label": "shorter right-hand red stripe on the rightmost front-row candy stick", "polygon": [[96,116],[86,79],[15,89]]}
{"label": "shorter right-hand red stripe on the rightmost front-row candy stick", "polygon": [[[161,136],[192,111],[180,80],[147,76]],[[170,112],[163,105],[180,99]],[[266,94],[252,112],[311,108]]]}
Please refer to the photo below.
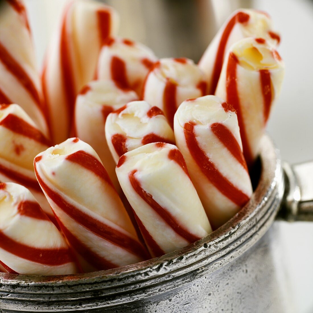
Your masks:
{"label": "shorter right-hand red stripe on the rightmost front-row candy stick", "polygon": [[233,133],[221,123],[213,123],[211,125],[212,133],[223,143],[225,148],[234,156],[234,158],[248,171],[244,154],[241,151],[238,141]]}

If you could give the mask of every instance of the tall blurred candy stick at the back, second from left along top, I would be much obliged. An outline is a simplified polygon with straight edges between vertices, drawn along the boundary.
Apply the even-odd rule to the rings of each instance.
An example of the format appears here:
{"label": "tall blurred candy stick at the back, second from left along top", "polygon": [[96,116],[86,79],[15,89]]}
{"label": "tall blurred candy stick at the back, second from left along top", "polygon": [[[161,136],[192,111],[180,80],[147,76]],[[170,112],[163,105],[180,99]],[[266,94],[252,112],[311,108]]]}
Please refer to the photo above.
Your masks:
{"label": "tall blurred candy stick at the back, second from left along top", "polygon": [[42,83],[55,143],[68,138],[75,97],[95,76],[102,44],[117,32],[115,10],[97,1],[70,2],[47,50]]}

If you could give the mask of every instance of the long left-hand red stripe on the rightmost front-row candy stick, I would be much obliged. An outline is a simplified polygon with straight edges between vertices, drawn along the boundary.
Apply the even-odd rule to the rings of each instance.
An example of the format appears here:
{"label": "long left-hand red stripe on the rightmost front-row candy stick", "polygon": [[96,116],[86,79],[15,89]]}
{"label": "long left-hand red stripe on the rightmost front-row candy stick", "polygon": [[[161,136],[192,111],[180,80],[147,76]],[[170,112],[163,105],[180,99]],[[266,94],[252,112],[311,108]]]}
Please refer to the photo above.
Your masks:
{"label": "long left-hand red stripe on the rightmost front-row candy stick", "polygon": [[186,143],[192,158],[216,189],[233,201],[233,203],[243,207],[249,201],[249,197],[225,178],[208,158],[207,154],[200,148],[194,133],[194,127],[195,125],[192,122],[184,125]]}

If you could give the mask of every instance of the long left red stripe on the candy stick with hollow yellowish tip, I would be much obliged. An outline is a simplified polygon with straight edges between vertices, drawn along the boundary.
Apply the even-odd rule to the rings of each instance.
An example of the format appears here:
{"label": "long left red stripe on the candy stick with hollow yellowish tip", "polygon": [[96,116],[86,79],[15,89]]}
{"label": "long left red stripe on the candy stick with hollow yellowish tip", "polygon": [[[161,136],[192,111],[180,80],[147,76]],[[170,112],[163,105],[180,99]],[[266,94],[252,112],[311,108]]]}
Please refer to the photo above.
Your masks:
{"label": "long left red stripe on the candy stick with hollow yellowish tip", "polygon": [[237,90],[237,64],[238,59],[233,53],[229,54],[227,71],[226,71],[226,100],[229,102],[233,108],[236,110],[238,117],[238,124],[240,128],[240,136],[244,151],[244,157],[248,166],[253,164],[253,156],[249,146],[249,141],[246,133],[246,128],[244,125],[244,118],[241,112],[240,100]]}

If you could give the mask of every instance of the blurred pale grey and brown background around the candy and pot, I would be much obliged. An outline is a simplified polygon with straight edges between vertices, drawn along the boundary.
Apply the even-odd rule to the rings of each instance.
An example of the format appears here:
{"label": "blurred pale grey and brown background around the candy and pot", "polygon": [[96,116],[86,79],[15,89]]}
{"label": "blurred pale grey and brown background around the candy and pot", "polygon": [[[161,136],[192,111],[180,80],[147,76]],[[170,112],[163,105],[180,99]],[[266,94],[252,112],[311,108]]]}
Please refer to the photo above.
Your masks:
{"label": "blurred pale grey and brown background around the candy and pot", "polygon": [[[41,65],[67,0],[25,0]],[[257,8],[281,34],[286,75],[268,133],[290,163],[313,159],[313,1],[310,0],[105,0],[121,17],[120,36],[140,41],[158,57],[198,62],[230,13]],[[296,312],[313,312],[313,223],[275,222],[282,266]],[[280,266],[278,263],[277,266]]]}

